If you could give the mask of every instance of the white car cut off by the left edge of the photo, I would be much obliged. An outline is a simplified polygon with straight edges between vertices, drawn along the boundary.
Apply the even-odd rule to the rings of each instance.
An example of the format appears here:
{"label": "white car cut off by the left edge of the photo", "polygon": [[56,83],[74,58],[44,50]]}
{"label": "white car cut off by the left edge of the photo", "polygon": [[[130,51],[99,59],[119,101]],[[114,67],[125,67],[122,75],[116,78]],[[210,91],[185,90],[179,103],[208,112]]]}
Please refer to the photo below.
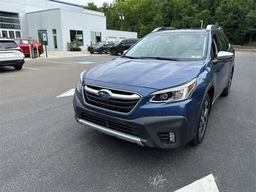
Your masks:
{"label": "white car cut off by the left edge of the photo", "polygon": [[8,38],[0,38],[0,67],[13,66],[16,70],[22,69],[25,62],[22,49]]}

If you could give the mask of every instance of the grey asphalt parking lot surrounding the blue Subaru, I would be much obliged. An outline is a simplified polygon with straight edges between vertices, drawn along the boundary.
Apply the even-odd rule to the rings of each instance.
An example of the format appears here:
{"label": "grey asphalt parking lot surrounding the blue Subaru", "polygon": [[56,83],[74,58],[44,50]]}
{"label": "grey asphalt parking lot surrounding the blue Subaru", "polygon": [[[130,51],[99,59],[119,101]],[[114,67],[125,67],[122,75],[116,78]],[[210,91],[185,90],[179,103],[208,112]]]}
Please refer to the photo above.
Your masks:
{"label": "grey asphalt parking lot surrounding the blue Subaru", "polygon": [[85,128],[74,120],[72,96],[57,97],[75,87],[80,72],[112,58],[2,68],[0,191],[172,192],[210,174],[220,192],[256,191],[256,52],[236,52],[230,95],[214,104],[202,144],[176,150]]}

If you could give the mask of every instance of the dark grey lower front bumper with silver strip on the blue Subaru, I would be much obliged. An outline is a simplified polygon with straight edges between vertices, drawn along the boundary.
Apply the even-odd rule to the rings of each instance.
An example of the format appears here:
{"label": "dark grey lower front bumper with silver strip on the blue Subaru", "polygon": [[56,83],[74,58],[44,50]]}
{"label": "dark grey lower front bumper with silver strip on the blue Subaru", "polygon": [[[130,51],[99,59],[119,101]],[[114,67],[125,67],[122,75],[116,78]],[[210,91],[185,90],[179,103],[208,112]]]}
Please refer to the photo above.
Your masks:
{"label": "dark grey lower front bumper with silver strip on the blue Subaru", "polygon": [[[184,116],[146,116],[135,119],[124,119],[107,114],[102,114],[87,108],[82,99],[82,96],[76,90],[73,98],[73,106],[75,110],[76,121],[80,124],[84,124],[86,127],[94,128],[109,134],[116,136],[129,142],[137,143],[141,146],[157,147],[157,148],[180,148],[187,144],[194,136],[194,128],[189,124],[189,121]],[[117,124],[127,125],[136,128],[138,135],[127,134],[125,132],[114,130],[106,126],[102,126],[90,119],[84,118],[83,114],[89,116],[98,117]],[[194,118],[195,119],[195,118]],[[163,140],[162,134],[168,134],[174,132],[175,142]]]}

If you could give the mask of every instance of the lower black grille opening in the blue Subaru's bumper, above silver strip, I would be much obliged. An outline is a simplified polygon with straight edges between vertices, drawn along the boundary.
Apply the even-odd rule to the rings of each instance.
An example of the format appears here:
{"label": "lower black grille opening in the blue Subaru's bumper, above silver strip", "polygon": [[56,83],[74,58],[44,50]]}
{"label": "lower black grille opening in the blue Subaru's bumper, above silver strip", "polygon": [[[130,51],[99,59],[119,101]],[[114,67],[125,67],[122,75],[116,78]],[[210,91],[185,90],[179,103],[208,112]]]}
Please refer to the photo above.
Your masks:
{"label": "lower black grille opening in the blue Subaru's bumper, above silver strip", "polygon": [[139,136],[138,130],[130,125],[117,123],[114,121],[107,120],[105,118],[99,118],[98,116],[94,116],[87,113],[82,113],[81,118],[113,130],[121,131],[134,136]]}

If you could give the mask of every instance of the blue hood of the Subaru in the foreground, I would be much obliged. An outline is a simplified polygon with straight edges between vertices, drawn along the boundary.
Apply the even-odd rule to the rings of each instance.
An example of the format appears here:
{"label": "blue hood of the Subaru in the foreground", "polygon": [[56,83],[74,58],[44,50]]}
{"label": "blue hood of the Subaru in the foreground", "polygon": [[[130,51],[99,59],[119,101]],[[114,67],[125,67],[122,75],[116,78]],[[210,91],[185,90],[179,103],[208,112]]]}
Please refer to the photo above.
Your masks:
{"label": "blue hood of the Subaru in the foreground", "polygon": [[192,80],[203,64],[204,61],[116,58],[88,70],[84,78],[163,89]]}

